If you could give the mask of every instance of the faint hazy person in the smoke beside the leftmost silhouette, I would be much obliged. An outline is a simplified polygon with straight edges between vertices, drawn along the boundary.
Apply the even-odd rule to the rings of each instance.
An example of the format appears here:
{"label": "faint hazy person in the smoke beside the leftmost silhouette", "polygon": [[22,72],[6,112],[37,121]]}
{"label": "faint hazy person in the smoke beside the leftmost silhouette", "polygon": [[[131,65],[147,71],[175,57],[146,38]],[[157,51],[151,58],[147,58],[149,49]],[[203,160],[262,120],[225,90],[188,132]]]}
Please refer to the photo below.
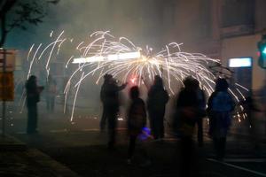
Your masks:
{"label": "faint hazy person in the smoke beside the leftmost silhouette", "polygon": [[54,112],[55,97],[57,93],[57,82],[51,77],[48,76],[46,81],[46,109],[48,112]]}

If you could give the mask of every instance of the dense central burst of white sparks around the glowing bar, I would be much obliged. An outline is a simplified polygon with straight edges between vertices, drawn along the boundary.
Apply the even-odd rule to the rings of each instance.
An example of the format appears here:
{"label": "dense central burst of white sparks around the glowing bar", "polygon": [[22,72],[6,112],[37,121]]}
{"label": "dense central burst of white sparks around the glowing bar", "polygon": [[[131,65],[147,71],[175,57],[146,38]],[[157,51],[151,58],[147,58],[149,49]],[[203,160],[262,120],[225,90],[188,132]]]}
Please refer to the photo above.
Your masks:
{"label": "dense central burst of white sparks around the glowing bar", "polygon": [[[209,63],[219,63],[219,60],[207,58],[200,53],[187,53],[181,50],[182,43],[172,42],[165,49],[154,52],[152,48],[137,47],[127,38],[121,37],[117,41],[108,32],[95,32],[90,35],[93,42],[77,48],[82,52],[81,58],[74,58],[73,63],[79,66],[74,74],[83,71],[80,84],[88,75],[100,71],[98,81],[106,73],[128,81],[131,75],[137,75],[138,85],[143,79],[153,81],[154,75],[160,75],[172,90],[173,82],[182,82],[186,76],[200,80],[201,86],[210,94],[213,91],[215,75],[209,71]],[[87,69],[91,68],[91,69]]]}

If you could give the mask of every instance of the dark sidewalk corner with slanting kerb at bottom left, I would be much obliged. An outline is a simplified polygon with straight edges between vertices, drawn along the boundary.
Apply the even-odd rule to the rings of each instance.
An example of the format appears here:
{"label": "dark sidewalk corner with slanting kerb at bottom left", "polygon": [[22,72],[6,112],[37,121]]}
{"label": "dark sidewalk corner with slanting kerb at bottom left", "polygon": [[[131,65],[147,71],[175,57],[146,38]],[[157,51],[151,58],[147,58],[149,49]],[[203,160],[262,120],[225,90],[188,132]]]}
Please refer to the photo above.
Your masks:
{"label": "dark sidewalk corner with slanting kerb at bottom left", "polygon": [[0,136],[0,176],[2,177],[78,177],[40,150],[28,148],[10,135]]}

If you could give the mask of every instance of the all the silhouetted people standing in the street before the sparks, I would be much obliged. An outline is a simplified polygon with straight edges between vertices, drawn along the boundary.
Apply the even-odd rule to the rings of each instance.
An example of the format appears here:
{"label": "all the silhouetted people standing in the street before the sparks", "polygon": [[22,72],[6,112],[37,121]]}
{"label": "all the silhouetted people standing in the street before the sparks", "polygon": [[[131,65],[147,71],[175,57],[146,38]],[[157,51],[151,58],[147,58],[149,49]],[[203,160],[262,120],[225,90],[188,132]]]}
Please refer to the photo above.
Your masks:
{"label": "all the silhouetted people standing in the street before the sparks", "polygon": [[[203,146],[203,123],[202,119],[209,119],[209,136],[213,139],[216,158],[223,160],[225,153],[226,135],[231,126],[231,113],[234,110],[235,102],[228,92],[229,84],[223,78],[215,81],[215,91],[208,98],[204,90],[200,89],[200,82],[192,77],[187,77],[183,81],[184,88],[177,93],[175,114],[172,127],[174,132],[180,138],[182,150],[182,173],[183,176],[190,172],[191,156],[193,150],[194,129],[198,129],[198,143]],[[100,120],[100,129],[108,130],[108,149],[113,150],[116,142],[117,116],[119,113],[120,100],[119,92],[127,87],[128,83],[118,85],[113,75],[106,74],[104,83],[100,90],[100,99],[103,104],[102,118]],[[52,92],[56,83],[49,78],[47,87]],[[37,103],[40,100],[40,93],[43,88],[36,84],[36,77],[30,76],[26,83],[27,89],[27,133],[36,132],[37,125]],[[153,138],[160,141],[164,138],[164,119],[166,104],[168,103],[168,91],[164,88],[160,75],[155,75],[153,85],[149,88],[147,101],[140,98],[138,86],[129,89],[130,104],[127,113],[129,149],[128,163],[131,163],[135,152],[136,144],[142,147],[141,151],[145,158],[145,165],[149,165],[150,160],[147,151],[141,144],[147,138]],[[48,94],[47,109],[53,111],[54,97]],[[150,125],[147,125],[147,122]],[[151,135],[148,131],[151,128]]]}

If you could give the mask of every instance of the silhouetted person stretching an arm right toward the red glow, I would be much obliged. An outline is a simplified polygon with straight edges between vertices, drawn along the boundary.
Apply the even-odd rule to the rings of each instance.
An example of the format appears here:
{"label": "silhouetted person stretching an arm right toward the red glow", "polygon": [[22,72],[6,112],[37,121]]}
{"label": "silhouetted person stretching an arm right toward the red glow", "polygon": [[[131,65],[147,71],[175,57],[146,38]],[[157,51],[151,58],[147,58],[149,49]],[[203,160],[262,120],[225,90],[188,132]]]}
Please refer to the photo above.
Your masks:
{"label": "silhouetted person stretching an arm right toward the red glow", "polygon": [[115,142],[115,128],[117,126],[117,114],[119,112],[119,91],[125,89],[128,83],[121,86],[117,85],[117,81],[113,77],[106,83],[106,96],[105,96],[105,110],[106,119],[108,121],[108,149],[113,150]]}

